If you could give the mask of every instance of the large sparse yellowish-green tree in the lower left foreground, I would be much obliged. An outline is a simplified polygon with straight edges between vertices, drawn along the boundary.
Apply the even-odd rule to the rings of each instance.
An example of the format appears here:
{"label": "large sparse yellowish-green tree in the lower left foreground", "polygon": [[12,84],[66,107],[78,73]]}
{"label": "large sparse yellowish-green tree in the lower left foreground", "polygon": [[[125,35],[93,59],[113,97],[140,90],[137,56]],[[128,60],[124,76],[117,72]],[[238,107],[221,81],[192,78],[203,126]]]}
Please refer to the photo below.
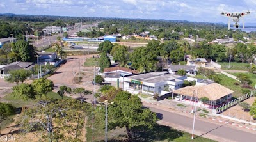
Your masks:
{"label": "large sparse yellowish-green tree in the lower left foreground", "polygon": [[41,141],[82,141],[84,118],[92,113],[90,104],[45,97],[37,102],[17,119],[21,132],[36,132]]}

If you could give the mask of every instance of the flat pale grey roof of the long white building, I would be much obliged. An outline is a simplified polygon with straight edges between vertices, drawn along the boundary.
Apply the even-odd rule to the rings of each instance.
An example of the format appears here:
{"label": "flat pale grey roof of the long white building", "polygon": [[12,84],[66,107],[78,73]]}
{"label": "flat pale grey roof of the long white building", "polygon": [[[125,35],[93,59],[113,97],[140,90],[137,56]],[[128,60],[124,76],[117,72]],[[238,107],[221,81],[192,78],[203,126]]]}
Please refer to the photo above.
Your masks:
{"label": "flat pale grey roof of the long white building", "polygon": [[147,83],[159,83],[163,81],[171,81],[174,79],[179,79],[182,76],[175,74],[168,74],[168,72],[148,72],[145,74],[138,74],[128,76],[129,79],[135,79],[138,81],[145,81]]}

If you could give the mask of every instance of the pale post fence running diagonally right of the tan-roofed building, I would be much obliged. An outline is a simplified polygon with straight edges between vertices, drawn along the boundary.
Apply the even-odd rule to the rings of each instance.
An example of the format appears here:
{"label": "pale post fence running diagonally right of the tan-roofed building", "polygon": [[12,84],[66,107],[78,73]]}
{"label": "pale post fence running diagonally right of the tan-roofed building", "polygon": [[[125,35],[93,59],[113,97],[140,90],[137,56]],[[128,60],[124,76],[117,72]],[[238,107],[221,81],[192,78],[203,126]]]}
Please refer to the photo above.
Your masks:
{"label": "pale post fence running diagonally right of the tan-roofed building", "polygon": [[223,104],[222,106],[220,107],[217,107],[216,108],[216,113],[220,114],[220,113],[223,113],[223,111],[225,111],[226,109],[228,109],[229,107],[232,107],[236,104],[238,104],[239,102],[245,100],[245,99],[248,99],[249,97],[252,97],[252,95],[254,95],[256,93],[256,90],[253,90],[251,91],[250,93],[247,93],[246,95],[243,95],[237,99],[234,99],[230,102],[227,102],[226,104]]}

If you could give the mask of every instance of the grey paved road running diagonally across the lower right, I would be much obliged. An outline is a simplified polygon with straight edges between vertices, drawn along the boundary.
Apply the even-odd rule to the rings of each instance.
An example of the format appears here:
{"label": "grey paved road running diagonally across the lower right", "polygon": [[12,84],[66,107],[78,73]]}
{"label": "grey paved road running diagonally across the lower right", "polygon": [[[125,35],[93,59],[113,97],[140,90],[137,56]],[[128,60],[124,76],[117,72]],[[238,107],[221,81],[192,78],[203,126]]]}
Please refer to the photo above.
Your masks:
{"label": "grey paved road running diagonally across the lower right", "polygon": [[[177,113],[164,111],[156,107],[152,107],[147,104],[143,104],[145,107],[149,107],[156,113],[163,114],[163,121],[168,123],[174,123],[184,127],[189,133],[192,132],[193,118],[183,116]],[[216,141],[241,141],[241,142],[255,142],[256,132],[246,132],[239,130],[239,128],[233,127],[230,124],[218,125],[211,122],[205,122],[202,120],[195,120],[195,134],[204,136],[207,138],[214,138]]]}

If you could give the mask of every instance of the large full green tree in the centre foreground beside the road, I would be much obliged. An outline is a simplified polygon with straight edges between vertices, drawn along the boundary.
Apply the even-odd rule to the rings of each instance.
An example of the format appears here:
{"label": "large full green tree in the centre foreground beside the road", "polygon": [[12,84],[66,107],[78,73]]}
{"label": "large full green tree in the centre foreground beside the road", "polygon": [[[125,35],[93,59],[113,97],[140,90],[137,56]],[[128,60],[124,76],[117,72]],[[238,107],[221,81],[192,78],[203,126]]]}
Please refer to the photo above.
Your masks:
{"label": "large full green tree in the centre foreground beside the road", "polygon": [[[148,127],[152,129],[157,121],[156,113],[145,109],[138,96],[127,91],[120,91],[113,99],[114,104],[108,107],[108,128],[125,127],[128,139],[131,139],[132,127]],[[99,110],[99,116],[104,121],[104,111]]]}

